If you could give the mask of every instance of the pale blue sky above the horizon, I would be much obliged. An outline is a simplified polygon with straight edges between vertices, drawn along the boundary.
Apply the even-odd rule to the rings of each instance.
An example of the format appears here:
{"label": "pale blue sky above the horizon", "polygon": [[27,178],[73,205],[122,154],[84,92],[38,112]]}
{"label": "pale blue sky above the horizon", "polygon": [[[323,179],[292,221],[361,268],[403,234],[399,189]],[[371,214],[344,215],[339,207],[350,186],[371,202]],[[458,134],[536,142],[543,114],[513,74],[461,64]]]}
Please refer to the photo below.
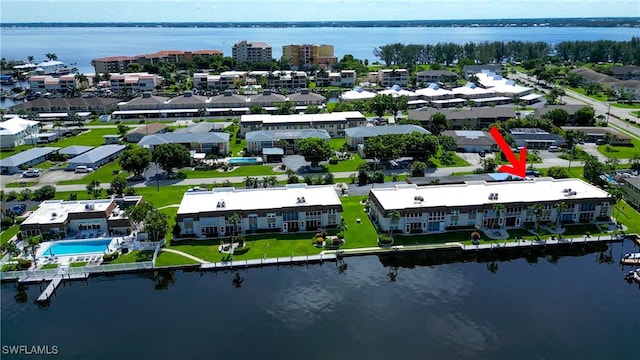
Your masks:
{"label": "pale blue sky above the horizon", "polygon": [[1,0],[0,21],[342,21],[640,16],[639,0]]}

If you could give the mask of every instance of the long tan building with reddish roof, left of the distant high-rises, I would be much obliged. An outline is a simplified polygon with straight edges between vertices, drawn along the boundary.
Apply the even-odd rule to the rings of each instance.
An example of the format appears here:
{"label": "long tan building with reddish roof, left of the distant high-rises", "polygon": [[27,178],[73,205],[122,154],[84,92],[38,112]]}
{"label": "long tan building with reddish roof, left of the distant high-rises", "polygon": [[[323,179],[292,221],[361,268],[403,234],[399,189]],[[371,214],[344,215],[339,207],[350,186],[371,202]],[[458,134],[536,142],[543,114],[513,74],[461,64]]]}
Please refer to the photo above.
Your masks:
{"label": "long tan building with reddish roof, left of the distant high-rises", "polygon": [[127,70],[127,66],[132,63],[140,64],[156,64],[160,61],[167,61],[173,64],[177,64],[183,61],[191,61],[194,56],[201,56],[209,58],[212,56],[222,56],[223,53],[220,50],[196,50],[196,51],[182,51],[182,50],[162,50],[153,54],[141,54],[135,56],[108,56],[98,59],[93,59],[91,64],[95,70],[99,73],[120,73]]}

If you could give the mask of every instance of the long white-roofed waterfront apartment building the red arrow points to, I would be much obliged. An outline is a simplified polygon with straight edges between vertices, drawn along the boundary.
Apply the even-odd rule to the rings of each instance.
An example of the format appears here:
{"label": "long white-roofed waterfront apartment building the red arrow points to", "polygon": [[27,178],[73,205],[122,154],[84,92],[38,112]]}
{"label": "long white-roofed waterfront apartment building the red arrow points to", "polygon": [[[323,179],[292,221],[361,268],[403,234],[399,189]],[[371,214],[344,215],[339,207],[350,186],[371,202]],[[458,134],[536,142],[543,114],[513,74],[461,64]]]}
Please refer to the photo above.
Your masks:
{"label": "long white-roofed waterfront apartment building the red arrow points to", "polygon": [[[371,218],[383,230],[405,234],[521,228],[536,221],[531,211],[534,204],[544,206],[539,223],[593,223],[608,220],[614,204],[606,191],[582,180],[551,178],[424,187],[398,185],[371,189],[369,199]],[[391,218],[394,210],[400,213],[395,222]]]}

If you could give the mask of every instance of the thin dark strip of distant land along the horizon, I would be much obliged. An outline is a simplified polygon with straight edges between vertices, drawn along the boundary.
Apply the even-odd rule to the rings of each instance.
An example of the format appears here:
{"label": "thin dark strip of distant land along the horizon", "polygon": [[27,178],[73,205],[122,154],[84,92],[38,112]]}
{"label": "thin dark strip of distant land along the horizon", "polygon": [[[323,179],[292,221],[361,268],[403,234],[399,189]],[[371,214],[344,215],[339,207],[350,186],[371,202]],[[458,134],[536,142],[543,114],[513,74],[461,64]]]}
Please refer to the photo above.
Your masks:
{"label": "thin dark strip of distant land along the horizon", "polygon": [[313,27],[628,27],[640,28],[640,17],[478,19],[478,20],[375,20],[292,22],[3,22],[2,28],[27,27],[162,27],[162,28],[313,28]]}

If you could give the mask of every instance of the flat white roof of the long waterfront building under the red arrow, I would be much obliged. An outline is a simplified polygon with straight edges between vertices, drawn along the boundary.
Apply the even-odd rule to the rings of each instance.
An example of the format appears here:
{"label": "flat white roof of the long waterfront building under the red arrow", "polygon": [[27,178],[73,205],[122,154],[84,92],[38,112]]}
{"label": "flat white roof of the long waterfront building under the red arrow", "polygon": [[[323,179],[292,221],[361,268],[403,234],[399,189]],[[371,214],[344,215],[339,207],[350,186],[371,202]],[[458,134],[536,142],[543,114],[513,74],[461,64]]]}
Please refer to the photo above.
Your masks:
{"label": "flat white roof of the long waterfront building under the red arrow", "polygon": [[[576,195],[565,196],[565,189]],[[464,207],[493,205],[495,203],[536,203],[567,201],[573,199],[606,199],[609,194],[579,179],[539,178],[534,181],[509,181],[498,183],[473,182],[460,185],[433,185],[418,187],[415,184],[398,185],[395,188],[375,188],[371,193],[385,210],[431,207]],[[497,193],[498,200],[489,200],[489,194]],[[416,203],[414,197],[424,201]]]}

